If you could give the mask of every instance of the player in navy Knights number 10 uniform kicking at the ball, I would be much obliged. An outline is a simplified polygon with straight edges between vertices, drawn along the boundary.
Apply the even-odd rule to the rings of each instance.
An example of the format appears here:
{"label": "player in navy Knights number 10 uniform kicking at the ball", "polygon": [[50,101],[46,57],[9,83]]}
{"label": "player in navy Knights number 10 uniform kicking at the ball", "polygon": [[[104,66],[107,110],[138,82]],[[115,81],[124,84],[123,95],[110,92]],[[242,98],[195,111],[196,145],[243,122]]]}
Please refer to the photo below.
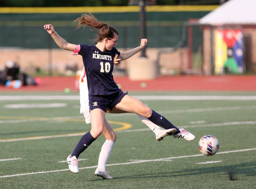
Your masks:
{"label": "player in navy Knights number 10 uniform kicking at the ball", "polygon": [[[164,129],[175,129],[173,130],[175,132],[172,134],[174,138],[182,137],[186,140],[193,140],[195,138],[195,136],[188,131],[184,129],[179,130],[162,115],[151,110],[141,101],[124,93],[118,88],[113,79],[112,71],[114,63],[118,63],[119,60],[128,59],[141,51],[148,43],[147,39],[141,39],[140,46],[120,53],[115,48],[119,35],[116,28],[106,23],[99,22],[91,14],[83,14],[75,21],[78,21],[78,28],[87,25],[99,29],[97,37],[98,43],[96,45],[76,45],[68,43],[58,35],[51,24],[44,25],[44,29],[47,30],[61,49],[74,51],[74,54],[80,54],[83,57],[84,68],[86,70],[91,130],[82,136],[74,151],[67,158],[68,167],[72,172],[79,172],[77,163],[78,156],[90,146],[100,134],[103,133],[106,139],[112,141],[109,145],[114,146],[116,134],[105,119],[107,108],[110,111],[116,108],[124,112],[135,113],[148,118],[148,120]],[[116,62],[114,62],[115,56],[119,58]],[[103,174],[106,175],[102,176]],[[109,176],[108,171],[99,169],[96,169],[95,175],[103,178]],[[109,178],[112,177],[109,176]]]}

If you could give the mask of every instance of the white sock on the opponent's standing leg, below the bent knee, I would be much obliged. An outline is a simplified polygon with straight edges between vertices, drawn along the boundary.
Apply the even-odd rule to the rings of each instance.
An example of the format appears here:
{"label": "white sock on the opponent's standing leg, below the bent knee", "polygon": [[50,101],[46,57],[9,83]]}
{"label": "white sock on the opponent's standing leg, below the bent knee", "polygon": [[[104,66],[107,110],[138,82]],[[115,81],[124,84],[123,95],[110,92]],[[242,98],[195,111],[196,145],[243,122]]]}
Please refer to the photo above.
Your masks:
{"label": "white sock on the opponent's standing leg, below the bent knee", "polygon": [[108,157],[114,145],[115,143],[112,140],[106,140],[102,145],[98,161],[98,169],[100,169],[101,171],[106,170]]}

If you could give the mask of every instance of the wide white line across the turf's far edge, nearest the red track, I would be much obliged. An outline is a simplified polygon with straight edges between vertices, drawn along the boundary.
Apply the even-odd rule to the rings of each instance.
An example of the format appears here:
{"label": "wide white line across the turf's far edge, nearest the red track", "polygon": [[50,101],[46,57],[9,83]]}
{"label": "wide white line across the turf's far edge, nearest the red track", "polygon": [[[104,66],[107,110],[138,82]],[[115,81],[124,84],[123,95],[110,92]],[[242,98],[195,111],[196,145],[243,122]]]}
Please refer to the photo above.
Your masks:
{"label": "wide white line across the turf's far edge, nearest the red track", "polygon": [[[255,95],[136,95],[139,100],[256,100]],[[79,95],[1,95],[1,100],[79,100]]]}

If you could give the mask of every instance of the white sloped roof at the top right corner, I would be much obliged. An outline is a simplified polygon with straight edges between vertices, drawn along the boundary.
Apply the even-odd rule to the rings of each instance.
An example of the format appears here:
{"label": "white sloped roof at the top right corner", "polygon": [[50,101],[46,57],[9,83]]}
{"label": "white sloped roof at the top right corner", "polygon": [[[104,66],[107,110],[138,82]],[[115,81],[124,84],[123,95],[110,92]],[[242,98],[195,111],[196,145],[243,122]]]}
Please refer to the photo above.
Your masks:
{"label": "white sloped roof at the top right corner", "polygon": [[229,0],[199,20],[200,24],[256,24],[256,0]]}

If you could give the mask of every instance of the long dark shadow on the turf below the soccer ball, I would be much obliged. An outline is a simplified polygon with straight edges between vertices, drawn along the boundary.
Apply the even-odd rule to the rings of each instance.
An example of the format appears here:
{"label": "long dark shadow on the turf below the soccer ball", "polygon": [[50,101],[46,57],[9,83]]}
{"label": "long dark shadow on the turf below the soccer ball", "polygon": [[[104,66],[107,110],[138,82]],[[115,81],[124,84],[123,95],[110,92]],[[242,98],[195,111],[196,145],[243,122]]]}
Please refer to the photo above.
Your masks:
{"label": "long dark shadow on the turf below the soccer ball", "polygon": [[[189,175],[201,175],[201,174],[209,174],[209,173],[220,173],[222,175],[226,175],[227,179],[229,179],[229,173],[235,175],[245,175],[245,176],[255,176],[256,169],[256,161],[240,163],[236,165],[226,165],[226,166],[217,166],[217,167],[202,167],[196,169],[185,169],[181,171],[172,171],[172,172],[164,172],[164,173],[148,173],[148,174],[140,174],[140,175],[130,175],[123,177],[114,177],[113,179],[129,179],[129,178],[159,178],[159,177],[180,177],[180,176],[189,176]],[[98,181],[99,179],[93,179],[90,181]]]}

